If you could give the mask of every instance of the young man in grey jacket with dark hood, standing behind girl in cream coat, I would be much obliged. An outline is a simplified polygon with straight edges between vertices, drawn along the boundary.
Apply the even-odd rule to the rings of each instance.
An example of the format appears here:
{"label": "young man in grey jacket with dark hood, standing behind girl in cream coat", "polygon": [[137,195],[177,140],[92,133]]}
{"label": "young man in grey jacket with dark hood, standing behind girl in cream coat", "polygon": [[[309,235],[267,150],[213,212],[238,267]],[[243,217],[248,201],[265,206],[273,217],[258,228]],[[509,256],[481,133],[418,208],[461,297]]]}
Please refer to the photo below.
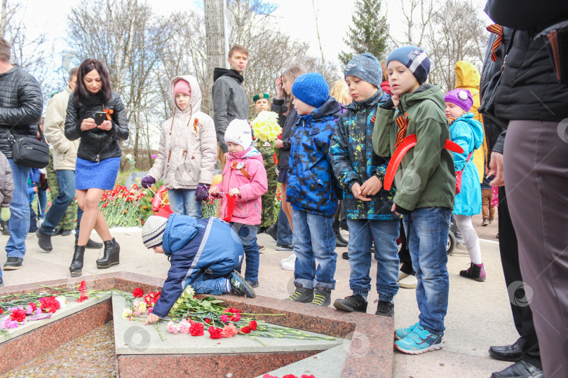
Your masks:
{"label": "young man in grey jacket with dark hood, standing behind girl in cream coat", "polygon": [[213,121],[217,130],[217,142],[224,158],[229,153],[225,144],[225,130],[231,120],[248,119],[248,97],[241,87],[243,71],[248,63],[248,50],[241,45],[234,45],[226,58],[231,69],[215,68],[213,71]]}

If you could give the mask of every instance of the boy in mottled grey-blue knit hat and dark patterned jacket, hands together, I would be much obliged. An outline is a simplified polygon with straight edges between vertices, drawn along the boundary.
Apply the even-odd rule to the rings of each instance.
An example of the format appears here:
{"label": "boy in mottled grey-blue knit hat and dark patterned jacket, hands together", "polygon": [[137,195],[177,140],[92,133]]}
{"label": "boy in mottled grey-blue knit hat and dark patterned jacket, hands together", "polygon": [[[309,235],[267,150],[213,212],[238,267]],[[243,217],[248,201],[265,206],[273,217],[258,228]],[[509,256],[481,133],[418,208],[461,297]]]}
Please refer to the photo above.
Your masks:
{"label": "boy in mottled grey-blue knit hat and dark patterned jacket, hands together", "polygon": [[333,305],[343,311],[367,312],[374,241],[379,294],[375,314],[394,316],[400,216],[391,210],[395,190],[383,189],[390,153],[387,158],[377,156],[371,139],[377,106],[388,99],[381,90],[381,63],[370,52],[357,55],[345,66],[344,77],[353,103],[337,120],[330,159],[335,176],[344,188],[343,205],[349,227],[349,287],[353,295],[337,299]]}

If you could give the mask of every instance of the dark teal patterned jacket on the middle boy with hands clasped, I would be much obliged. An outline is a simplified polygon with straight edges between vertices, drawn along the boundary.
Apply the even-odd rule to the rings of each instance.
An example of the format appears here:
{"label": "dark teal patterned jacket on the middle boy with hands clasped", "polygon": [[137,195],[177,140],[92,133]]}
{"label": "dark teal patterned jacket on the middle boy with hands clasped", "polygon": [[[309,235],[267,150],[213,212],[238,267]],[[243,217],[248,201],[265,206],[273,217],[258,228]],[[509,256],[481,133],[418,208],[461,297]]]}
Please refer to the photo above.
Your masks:
{"label": "dark teal patterned jacket on the middle boy with hands clasped", "polygon": [[353,197],[351,186],[363,185],[372,175],[384,179],[389,158],[373,151],[372,133],[377,105],[384,102],[384,93],[378,90],[363,102],[353,102],[335,125],[330,146],[333,172],[344,189],[343,205],[348,219],[391,220],[398,216],[391,211],[395,188],[381,189],[363,202]]}

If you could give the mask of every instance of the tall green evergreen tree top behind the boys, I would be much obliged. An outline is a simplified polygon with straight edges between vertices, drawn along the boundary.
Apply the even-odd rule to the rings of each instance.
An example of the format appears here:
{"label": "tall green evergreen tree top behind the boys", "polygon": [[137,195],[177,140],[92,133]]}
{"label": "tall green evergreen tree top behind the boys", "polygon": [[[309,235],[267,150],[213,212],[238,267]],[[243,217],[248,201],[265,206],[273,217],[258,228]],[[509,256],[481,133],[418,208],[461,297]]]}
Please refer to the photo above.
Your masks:
{"label": "tall green evergreen tree top behind the boys", "polygon": [[386,14],[381,13],[382,0],[357,0],[355,13],[351,16],[352,27],[349,27],[345,43],[351,52],[340,52],[339,60],[349,63],[351,58],[363,52],[370,52],[381,59],[384,57],[388,37]]}

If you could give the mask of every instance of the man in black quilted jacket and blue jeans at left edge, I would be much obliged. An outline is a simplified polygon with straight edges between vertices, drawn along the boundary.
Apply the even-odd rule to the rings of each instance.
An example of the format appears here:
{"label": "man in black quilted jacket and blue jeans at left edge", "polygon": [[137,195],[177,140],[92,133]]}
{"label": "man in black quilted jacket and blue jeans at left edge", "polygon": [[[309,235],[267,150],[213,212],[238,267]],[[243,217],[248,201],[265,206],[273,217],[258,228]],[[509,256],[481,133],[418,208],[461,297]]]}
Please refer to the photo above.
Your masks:
{"label": "man in black quilted jacket and blue jeans at left edge", "polygon": [[29,230],[29,168],[15,164],[9,134],[14,139],[22,136],[35,138],[36,123],[43,109],[41,87],[29,73],[18,66],[12,66],[10,49],[10,44],[0,38],[0,151],[8,158],[15,188],[10,204],[10,239],[6,244],[8,260],[4,264],[4,270],[22,267]]}

